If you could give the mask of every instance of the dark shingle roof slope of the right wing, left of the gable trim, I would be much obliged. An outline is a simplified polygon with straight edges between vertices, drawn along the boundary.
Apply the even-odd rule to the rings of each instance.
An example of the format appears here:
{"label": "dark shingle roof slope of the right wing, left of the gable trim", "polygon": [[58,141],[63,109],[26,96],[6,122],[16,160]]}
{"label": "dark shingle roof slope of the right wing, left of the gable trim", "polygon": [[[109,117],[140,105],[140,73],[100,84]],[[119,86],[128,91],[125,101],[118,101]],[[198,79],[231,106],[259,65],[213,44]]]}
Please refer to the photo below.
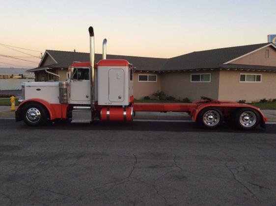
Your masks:
{"label": "dark shingle roof slope of the right wing, left of the gable trim", "polygon": [[161,70],[168,71],[221,68],[221,64],[269,44],[271,43],[192,52],[168,59]]}

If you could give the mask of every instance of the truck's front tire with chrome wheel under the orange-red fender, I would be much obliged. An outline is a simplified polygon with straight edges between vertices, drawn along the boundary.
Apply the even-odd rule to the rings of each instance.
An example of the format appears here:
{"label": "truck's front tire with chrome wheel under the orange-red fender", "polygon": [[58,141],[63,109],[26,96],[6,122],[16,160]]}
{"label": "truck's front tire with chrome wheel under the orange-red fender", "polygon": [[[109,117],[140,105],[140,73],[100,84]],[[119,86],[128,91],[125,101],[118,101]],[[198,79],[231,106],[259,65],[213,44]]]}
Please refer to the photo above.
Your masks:
{"label": "truck's front tire with chrome wheel under the orange-red fender", "polygon": [[23,108],[22,118],[29,126],[41,126],[48,120],[48,111],[40,103],[28,103]]}

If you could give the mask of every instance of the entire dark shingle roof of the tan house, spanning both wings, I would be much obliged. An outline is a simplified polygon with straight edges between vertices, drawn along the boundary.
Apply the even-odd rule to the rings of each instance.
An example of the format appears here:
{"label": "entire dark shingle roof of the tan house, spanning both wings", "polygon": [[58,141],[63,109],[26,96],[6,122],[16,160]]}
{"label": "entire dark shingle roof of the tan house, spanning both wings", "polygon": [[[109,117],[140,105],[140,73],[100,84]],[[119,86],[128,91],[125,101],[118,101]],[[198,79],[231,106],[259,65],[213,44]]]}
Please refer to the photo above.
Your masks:
{"label": "entire dark shingle roof of the tan house, spanning both wings", "polygon": [[[126,59],[136,67],[138,71],[171,71],[171,70],[193,70],[193,69],[216,69],[216,68],[258,68],[264,69],[264,66],[254,65],[230,65],[223,63],[245,55],[254,50],[269,46],[271,43],[254,44],[238,47],[228,47],[200,52],[192,52],[172,58],[152,58],[140,56],[123,56],[107,54],[108,59]],[[89,61],[89,53],[83,52],[64,52],[55,50],[46,50],[57,62],[49,65],[51,68],[68,68],[73,61]],[[95,54],[95,62],[102,59],[102,54]],[[34,68],[28,71],[38,71],[44,67]],[[274,67],[267,68],[274,70]]]}

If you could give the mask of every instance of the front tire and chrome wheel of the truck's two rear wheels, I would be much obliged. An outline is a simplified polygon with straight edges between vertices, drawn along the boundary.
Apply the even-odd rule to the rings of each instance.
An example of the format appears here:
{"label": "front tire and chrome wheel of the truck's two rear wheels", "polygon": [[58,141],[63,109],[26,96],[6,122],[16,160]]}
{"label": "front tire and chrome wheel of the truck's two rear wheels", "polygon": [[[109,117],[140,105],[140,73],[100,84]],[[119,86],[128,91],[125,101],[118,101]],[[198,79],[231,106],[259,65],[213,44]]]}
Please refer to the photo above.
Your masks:
{"label": "front tire and chrome wheel of the truck's two rear wheels", "polygon": [[207,107],[202,109],[196,118],[199,125],[207,129],[217,128],[221,124],[222,120],[223,115],[221,110],[215,107]]}

